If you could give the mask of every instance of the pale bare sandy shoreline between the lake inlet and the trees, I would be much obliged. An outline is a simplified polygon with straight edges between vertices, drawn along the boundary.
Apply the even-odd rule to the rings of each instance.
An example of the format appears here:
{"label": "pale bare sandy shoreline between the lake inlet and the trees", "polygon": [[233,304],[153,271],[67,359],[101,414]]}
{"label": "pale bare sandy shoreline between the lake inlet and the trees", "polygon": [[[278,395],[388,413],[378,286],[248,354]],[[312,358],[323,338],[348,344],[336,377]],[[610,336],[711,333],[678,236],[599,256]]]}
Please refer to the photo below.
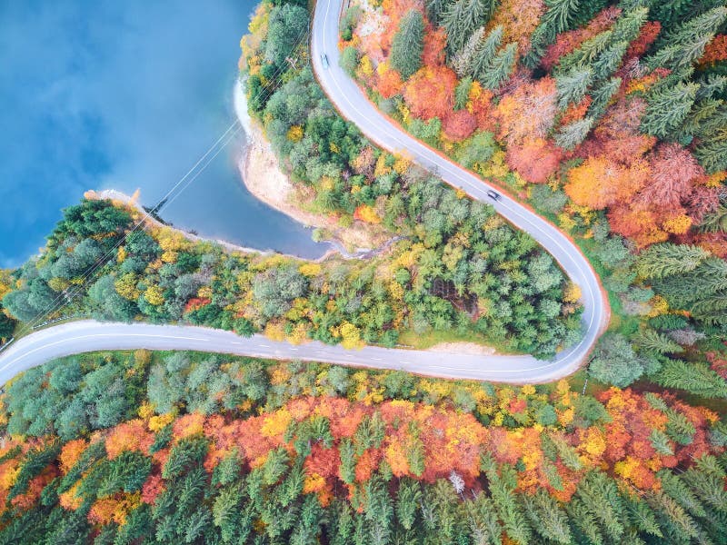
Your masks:
{"label": "pale bare sandy shoreline between the lake inlet and the trees", "polygon": [[366,252],[386,242],[386,233],[372,225],[356,221],[353,225],[342,227],[334,217],[305,210],[305,204],[313,201],[313,193],[306,192],[305,187],[296,186],[281,169],[262,127],[247,114],[240,83],[234,86],[234,111],[247,134],[247,144],[238,168],[250,193],[297,222],[322,229],[325,240],[338,241],[348,253]]}

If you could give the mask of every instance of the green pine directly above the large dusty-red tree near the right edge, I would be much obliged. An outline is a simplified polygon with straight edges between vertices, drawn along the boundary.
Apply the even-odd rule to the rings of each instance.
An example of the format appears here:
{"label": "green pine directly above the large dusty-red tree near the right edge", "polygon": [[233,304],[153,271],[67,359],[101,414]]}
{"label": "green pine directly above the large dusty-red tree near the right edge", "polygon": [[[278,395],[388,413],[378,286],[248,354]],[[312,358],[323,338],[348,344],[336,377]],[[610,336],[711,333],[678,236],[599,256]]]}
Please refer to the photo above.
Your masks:
{"label": "green pine directly above the large dusty-red tree near the right edge", "polygon": [[657,88],[649,94],[642,132],[659,138],[675,133],[689,114],[698,89],[698,84],[679,83]]}

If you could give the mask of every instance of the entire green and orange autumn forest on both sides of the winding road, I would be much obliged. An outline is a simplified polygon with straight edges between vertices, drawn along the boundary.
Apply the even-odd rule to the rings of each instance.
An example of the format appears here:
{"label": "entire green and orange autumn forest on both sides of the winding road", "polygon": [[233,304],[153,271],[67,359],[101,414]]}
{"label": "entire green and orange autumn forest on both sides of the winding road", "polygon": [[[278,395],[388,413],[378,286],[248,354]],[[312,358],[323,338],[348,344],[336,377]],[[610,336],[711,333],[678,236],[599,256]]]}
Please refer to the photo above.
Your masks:
{"label": "entire green and orange autumn forest on both sides of the winding road", "polygon": [[[0,272],[0,339],[51,310],[352,349],[577,342],[579,289],[531,237],[335,112],[308,8],[257,7],[250,113],[304,207],[402,240],[357,261],[231,253],[84,200]],[[342,65],[382,111],[593,263],[612,323],[588,365],[511,386],[195,352],[47,362],[0,391],[0,543],[727,543],[725,18],[714,0],[352,2]]]}

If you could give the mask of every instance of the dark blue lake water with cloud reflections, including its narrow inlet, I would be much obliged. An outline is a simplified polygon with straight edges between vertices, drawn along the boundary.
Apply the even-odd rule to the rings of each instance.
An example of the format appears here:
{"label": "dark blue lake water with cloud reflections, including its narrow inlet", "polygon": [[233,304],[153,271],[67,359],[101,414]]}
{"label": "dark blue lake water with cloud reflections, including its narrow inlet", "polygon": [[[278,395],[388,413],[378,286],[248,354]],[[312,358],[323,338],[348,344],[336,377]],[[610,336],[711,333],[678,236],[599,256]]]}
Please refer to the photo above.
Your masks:
{"label": "dark blue lake water with cloud reflections, including its narrow inlet", "polygon": [[[0,267],[45,243],[87,189],[154,204],[234,121],[254,0],[0,1]],[[162,213],[204,236],[304,257],[326,246],[257,201],[228,144]]]}

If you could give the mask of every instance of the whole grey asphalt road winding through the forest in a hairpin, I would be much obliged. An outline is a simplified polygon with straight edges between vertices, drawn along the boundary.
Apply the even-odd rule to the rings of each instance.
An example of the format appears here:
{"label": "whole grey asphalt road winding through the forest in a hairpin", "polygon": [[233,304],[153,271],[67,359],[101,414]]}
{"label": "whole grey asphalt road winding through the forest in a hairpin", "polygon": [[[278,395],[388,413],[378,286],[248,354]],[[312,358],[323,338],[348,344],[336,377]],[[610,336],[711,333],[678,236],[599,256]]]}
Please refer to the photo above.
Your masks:
{"label": "whole grey asphalt road winding through the forest in a hairpin", "polygon": [[[472,355],[450,352],[386,349],[374,346],[348,351],[340,346],[308,342],[294,346],[273,342],[262,335],[241,338],[233,332],[180,325],[146,323],[71,322],[34,332],[0,352],[0,384],[36,365],[65,355],[99,350],[194,350],[272,359],[341,363],[350,366],[398,369],[446,378],[503,382],[544,382],[575,372],[608,322],[609,307],[598,277],[583,253],[552,223],[505,194],[499,200],[488,196],[497,188],[457,166],[420,143],[381,114],[364,92],[339,66],[338,18],[343,0],[318,0],[311,37],[314,73],[337,110],[356,124],[374,143],[393,153],[412,158],[436,172],[444,182],[461,188],[474,199],[490,203],[495,210],[533,238],[581,287],[583,340],[560,352],[551,362],[532,356]],[[324,67],[322,55],[328,59]]]}

